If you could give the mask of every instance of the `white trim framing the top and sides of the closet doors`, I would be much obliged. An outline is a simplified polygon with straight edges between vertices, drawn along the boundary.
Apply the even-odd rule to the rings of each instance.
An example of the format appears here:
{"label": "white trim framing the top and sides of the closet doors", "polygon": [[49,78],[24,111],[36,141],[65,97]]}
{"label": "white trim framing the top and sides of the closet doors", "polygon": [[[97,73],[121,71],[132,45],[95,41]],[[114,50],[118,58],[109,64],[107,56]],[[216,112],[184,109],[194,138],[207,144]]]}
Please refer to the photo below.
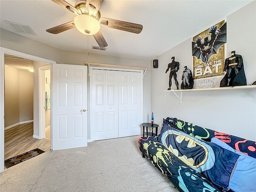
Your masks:
{"label": "white trim framing the top and sides of the closet doors", "polygon": [[[88,117],[88,119],[91,119],[92,116],[92,70],[93,69],[99,69],[99,70],[114,70],[114,71],[127,71],[127,72],[140,72],[141,74],[141,121],[143,120],[143,70],[134,70],[134,69],[125,69],[125,68],[109,68],[109,67],[97,67],[97,66],[90,66],[90,106],[88,108],[90,108],[90,117]],[[90,139],[88,139],[88,142],[93,142],[92,140],[92,127],[91,127],[91,120],[90,120]]]}

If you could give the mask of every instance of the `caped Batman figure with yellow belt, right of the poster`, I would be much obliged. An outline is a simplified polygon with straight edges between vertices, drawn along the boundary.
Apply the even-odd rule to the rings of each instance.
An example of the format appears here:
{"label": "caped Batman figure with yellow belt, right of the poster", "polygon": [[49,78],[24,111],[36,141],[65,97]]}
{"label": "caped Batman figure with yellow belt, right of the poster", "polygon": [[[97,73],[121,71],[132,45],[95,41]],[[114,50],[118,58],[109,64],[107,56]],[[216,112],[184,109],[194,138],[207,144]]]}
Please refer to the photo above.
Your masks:
{"label": "caped Batman figure with yellow belt, right of the poster", "polygon": [[232,51],[231,56],[226,58],[224,71],[227,73],[221,80],[220,87],[246,85],[243,58],[236,51]]}

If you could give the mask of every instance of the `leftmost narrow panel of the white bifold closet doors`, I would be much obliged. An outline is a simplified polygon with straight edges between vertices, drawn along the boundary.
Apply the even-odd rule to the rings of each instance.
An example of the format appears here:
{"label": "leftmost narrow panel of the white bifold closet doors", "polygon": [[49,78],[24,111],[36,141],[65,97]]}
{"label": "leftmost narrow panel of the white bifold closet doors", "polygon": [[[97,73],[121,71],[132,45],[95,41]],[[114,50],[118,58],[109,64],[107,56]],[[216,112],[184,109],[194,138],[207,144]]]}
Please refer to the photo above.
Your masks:
{"label": "leftmost narrow panel of the white bifold closet doors", "polygon": [[92,140],[106,139],[105,71],[92,70]]}

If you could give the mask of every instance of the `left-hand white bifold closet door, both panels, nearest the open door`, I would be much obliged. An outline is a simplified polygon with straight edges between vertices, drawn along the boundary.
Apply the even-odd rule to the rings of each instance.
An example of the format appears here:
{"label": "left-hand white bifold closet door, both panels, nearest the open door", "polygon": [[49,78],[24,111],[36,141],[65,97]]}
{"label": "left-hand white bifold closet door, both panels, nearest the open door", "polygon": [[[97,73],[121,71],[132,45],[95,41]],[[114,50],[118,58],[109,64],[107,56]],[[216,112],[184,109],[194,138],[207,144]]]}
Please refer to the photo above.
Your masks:
{"label": "left-hand white bifold closet door, both panels, nearest the open door", "polygon": [[92,140],[118,138],[118,72],[92,70]]}

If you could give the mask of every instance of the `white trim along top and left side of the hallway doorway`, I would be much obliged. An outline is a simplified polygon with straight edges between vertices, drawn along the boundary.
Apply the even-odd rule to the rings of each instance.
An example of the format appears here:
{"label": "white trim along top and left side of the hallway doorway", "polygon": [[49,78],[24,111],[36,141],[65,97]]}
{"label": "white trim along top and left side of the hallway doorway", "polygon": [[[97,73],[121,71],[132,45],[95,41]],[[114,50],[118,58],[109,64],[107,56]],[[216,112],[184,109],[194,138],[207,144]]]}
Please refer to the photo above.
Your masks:
{"label": "white trim along top and left side of the hallway doorway", "polygon": [[[0,47],[0,172],[4,171],[4,54],[10,54],[18,57],[23,57],[29,60],[54,64],[55,61],[18,52],[15,50]],[[52,117],[51,117],[52,120]],[[51,122],[52,124],[52,122]],[[52,146],[52,140],[51,140]]]}

